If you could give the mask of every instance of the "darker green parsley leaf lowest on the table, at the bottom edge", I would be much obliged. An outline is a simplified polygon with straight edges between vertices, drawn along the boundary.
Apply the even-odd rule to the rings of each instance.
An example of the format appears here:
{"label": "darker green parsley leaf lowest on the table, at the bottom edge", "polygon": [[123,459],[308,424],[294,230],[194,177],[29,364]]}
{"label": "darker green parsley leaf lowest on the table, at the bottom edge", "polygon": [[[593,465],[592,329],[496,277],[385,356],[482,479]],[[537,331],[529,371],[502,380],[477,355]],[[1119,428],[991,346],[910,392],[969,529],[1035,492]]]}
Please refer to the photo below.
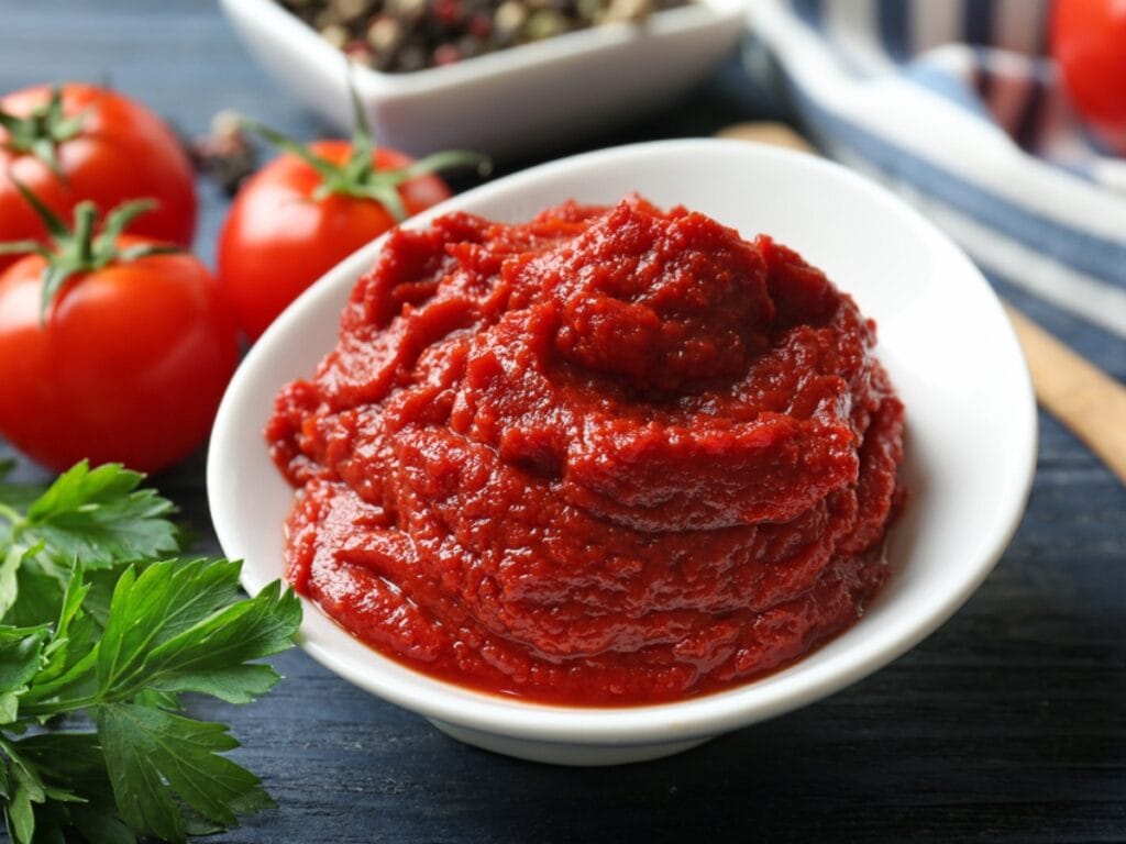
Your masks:
{"label": "darker green parsley leaf lowest on the table, at the bottom edge", "polygon": [[218,755],[239,746],[221,724],[113,703],[98,710],[98,736],[122,817],[143,835],[186,841],[173,796],[216,829],[236,823],[232,805],[272,805],[257,776]]}

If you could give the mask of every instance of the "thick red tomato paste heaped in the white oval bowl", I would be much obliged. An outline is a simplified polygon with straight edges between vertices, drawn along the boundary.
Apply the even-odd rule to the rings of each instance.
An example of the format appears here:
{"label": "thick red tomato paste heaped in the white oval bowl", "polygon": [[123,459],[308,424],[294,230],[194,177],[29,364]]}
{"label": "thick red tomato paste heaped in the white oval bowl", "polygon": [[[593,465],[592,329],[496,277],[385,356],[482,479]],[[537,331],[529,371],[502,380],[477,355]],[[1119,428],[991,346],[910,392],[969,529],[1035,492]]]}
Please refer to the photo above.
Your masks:
{"label": "thick red tomato paste heaped in the white oval bowl", "polygon": [[903,406],[875,324],[767,236],[640,198],[391,234],[267,429],[286,572],[494,693],[678,700],[778,668],[887,577]]}

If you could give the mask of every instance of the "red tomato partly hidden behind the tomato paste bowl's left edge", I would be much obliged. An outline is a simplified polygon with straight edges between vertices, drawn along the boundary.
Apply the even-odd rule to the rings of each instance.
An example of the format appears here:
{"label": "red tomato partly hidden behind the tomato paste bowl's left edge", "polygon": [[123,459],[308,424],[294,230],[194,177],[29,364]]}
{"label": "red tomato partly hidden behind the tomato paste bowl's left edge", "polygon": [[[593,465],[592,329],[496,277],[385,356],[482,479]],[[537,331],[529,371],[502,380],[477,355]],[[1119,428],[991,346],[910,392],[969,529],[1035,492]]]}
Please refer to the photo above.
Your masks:
{"label": "red tomato partly hidden behind the tomato paste bowl's left edge", "polygon": [[[333,164],[352,154],[348,141],[320,141],[309,150]],[[399,169],[411,159],[375,152],[375,170]],[[239,191],[218,240],[218,277],[239,327],[254,340],[297,295],[324,272],[396,223],[378,201],[343,194],[314,198],[322,176],[292,153],[256,173]],[[408,214],[448,199],[436,176],[399,187]]]}

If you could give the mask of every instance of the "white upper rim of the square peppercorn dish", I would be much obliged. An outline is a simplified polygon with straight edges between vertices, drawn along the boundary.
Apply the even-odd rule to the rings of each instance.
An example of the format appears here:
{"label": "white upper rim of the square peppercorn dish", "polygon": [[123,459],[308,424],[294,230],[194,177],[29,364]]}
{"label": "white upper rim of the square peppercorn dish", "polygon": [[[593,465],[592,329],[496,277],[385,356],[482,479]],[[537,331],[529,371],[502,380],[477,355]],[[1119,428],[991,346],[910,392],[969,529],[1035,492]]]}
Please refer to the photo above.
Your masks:
{"label": "white upper rim of the square peppercorn dish", "polygon": [[[220,0],[220,5],[229,15],[236,9],[236,14],[252,15],[275,37],[302,45],[309,60],[325,72],[337,73],[343,64],[345,55],[339,48],[324,41],[311,26],[275,0]],[[423,68],[409,73],[387,73],[358,62],[349,62],[347,66],[361,97],[410,95],[516,74],[644,38],[663,39],[712,27],[741,30],[747,16],[743,0],[689,0],[686,6],[654,12],[644,25],[618,21],[587,27],[473,56],[463,62]]]}

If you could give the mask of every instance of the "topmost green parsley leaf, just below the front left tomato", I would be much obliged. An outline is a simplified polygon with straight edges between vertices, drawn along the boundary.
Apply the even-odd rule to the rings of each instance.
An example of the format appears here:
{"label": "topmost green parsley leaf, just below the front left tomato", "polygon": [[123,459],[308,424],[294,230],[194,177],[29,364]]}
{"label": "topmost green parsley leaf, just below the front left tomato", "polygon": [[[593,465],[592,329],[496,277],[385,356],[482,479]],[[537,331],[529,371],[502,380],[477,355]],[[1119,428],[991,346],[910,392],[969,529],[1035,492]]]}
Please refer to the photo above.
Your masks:
{"label": "topmost green parsley leaf, just below the front left tomato", "polygon": [[80,463],[30,504],[17,532],[87,568],[175,554],[177,530],[166,518],[172,504],[152,490],[137,490],[143,478],[118,464],[91,469]]}

